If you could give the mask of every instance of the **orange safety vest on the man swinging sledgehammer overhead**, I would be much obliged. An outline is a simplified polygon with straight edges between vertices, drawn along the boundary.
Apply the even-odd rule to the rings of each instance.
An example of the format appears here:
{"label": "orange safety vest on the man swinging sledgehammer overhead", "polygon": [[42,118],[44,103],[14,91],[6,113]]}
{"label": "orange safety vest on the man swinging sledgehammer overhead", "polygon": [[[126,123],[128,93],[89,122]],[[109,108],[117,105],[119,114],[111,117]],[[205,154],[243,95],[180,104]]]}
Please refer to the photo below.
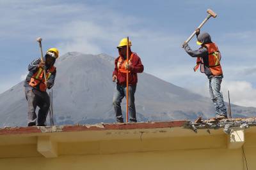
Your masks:
{"label": "orange safety vest on the man swinging sledgehammer overhead", "polygon": [[[215,43],[207,43],[204,46],[207,48],[209,53],[209,69],[211,73],[214,76],[220,76],[221,74],[223,74],[223,72],[220,65],[221,53],[218,50],[218,46],[216,46]],[[194,71],[196,71],[200,65],[201,72],[204,73],[204,71],[202,71],[202,67],[204,68],[204,61],[201,57],[197,57]]]}

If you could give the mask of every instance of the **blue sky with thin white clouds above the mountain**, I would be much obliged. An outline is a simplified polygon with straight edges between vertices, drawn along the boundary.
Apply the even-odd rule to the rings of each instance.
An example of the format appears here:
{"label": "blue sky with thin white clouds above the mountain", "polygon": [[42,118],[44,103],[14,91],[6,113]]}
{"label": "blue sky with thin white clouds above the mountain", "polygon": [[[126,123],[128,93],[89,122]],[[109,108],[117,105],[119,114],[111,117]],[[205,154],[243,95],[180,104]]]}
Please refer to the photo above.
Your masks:
{"label": "blue sky with thin white clouds above the mountain", "polygon": [[[116,46],[129,36],[145,72],[209,97],[207,77],[196,72],[195,58],[180,45],[207,17],[209,32],[221,52],[227,91],[234,104],[256,107],[256,1],[0,1],[0,93],[24,80],[28,64],[45,50],[118,55]],[[199,48],[193,38],[189,45]],[[111,75],[111,74],[110,74]],[[109,77],[111,79],[111,77]]]}

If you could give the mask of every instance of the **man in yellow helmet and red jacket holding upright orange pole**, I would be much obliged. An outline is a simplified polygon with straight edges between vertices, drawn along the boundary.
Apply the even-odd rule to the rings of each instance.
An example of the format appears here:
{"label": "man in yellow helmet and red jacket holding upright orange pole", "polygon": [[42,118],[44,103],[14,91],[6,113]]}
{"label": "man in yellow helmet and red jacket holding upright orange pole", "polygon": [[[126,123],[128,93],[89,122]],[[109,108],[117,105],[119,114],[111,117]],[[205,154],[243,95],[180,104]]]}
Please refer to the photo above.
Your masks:
{"label": "man in yellow helmet and red jacket holding upright orange pole", "polygon": [[126,96],[127,71],[129,71],[129,120],[130,122],[137,122],[134,94],[138,82],[137,73],[142,73],[144,70],[140,57],[131,51],[131,41],[129,41],[129,63],[127,63],[127,43],[127,38],[124,38],[117,46],[119,57],[115,59],[115,70],[113,71],[113,81],[117,80],[113,97],[113,108],[116,114],[116,122],[118,123],[124,123],[120,103],[124,96]]}

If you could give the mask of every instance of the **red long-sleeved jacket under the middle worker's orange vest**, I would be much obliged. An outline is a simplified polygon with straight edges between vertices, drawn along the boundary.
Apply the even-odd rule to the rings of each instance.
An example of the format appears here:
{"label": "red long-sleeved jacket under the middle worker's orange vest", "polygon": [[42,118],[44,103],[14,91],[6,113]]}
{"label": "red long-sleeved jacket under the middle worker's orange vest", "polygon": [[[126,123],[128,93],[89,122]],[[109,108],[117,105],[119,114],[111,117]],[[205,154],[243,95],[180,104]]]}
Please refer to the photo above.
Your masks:
{"label": "red long-sleeved jacket under the middle worker's orange vest", "polygon": [[[138,82],[137,73],[142,73],[144,70],[144,66],[141,63],[140,57],[136,53],[133,54],[134,55],[131,60],[131,72],[129,73],[129,85],[135,85]],[[113,71],[113,76],[116,75],[118,84],[126,85],[126,73],[118,71],[117,62],[119,57],[115,59],[115,70]]]}

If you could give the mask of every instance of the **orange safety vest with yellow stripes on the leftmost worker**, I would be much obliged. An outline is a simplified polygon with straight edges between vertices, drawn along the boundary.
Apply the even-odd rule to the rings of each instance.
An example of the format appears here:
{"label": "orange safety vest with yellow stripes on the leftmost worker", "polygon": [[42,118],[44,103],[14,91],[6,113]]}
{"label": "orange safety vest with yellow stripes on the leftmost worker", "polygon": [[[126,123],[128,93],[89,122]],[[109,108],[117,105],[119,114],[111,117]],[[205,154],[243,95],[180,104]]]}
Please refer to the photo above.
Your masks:
{"label": "orange safety vest with yellow stripes on the leftmost worker", "polygon": [[[46,80],[49,80],[50,76],[54,71],[56,70],[56,67],[52,66],[46,73]],[[44,70],[42,68],[39,68],[38,71],[36,71],[35,74],[31,77],[29,81],[29,85],[31,87],[36,87],[39,84],[39,89],[42,92],[46,91],[46,85],[45,85],[45,80],[44,80]]]}

